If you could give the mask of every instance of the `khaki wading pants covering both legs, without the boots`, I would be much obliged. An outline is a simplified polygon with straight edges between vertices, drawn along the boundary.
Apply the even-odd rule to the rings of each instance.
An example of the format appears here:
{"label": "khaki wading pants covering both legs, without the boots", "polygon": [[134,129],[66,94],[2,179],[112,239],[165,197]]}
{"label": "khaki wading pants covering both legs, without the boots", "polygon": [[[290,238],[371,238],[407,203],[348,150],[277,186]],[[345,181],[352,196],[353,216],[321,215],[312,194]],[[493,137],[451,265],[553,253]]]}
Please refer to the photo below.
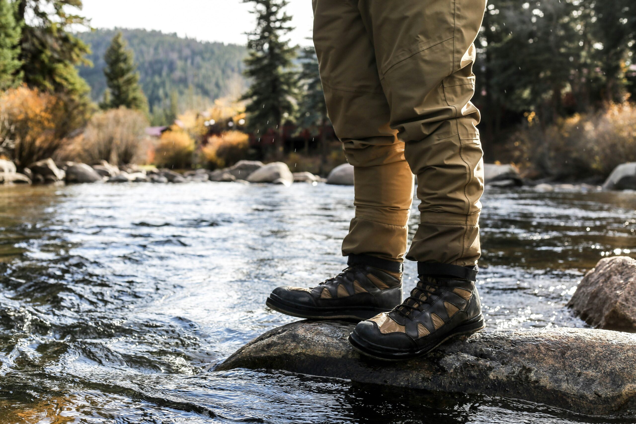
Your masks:
{"label": "khaki wading pants covering both legs, without the boots", "polygon": [[343,255],[402,261],[417,176],[420,224],[407,259],[480,257],[483,192],[473,41],[486,0],[313,0],[329,118],[354,165],[356,216]]}

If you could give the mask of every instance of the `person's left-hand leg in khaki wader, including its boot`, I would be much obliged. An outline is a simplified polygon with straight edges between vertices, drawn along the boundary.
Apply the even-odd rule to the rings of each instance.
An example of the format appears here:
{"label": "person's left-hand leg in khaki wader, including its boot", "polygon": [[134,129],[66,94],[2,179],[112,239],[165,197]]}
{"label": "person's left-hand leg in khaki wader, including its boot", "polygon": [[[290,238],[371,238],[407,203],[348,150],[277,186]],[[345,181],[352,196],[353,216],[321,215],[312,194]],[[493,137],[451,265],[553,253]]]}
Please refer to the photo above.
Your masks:
{"label": "person's left-hand leg in khaki wader, including its boot", "polygon": [[314,44],[329,118],[354,166],[356,216],[342,245],[349,266],[312,289],[277,287],[266,304],[295,317],[367,319],[402,301],[413,174],[404,143],[389,127],[389,105],[357,4],[313,4]]}

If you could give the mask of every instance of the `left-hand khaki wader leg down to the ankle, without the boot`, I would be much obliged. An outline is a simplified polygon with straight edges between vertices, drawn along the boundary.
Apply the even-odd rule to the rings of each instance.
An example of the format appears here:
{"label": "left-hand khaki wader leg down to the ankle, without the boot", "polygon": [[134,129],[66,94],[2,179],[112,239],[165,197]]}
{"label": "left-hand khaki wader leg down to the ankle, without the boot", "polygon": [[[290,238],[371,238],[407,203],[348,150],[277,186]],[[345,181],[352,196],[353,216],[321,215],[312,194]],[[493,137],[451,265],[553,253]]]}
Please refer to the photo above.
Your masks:
{"label": "left-hand khaki wader leg down to the ankle, without the boot", "polygon": [[375,52],[355,1],[314,0],[314,45],[329,118],[354,166],[356,215],[344,256],[403,261],[413,202],[404,143],[389,127]]}

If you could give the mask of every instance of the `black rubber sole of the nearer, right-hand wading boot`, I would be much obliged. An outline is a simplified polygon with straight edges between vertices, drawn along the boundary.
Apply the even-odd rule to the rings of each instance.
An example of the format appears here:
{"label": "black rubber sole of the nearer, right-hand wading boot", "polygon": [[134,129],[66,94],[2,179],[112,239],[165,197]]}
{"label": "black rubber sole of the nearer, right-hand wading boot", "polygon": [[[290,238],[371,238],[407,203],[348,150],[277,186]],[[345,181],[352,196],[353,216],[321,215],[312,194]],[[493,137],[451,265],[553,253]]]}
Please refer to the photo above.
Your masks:
{"label": "black rubber sole of the nearer, right-hand wading boot", "polygon": [[354,350],[365,356],[385,361],[401,361],[426,355],[449,339],[459,336],[469,336],[474,332],[480,331],[485,326],[483,316],[480,315],[479,317],[473,318],[462,325],[458,325],[443,336],[443,338],[439,339],[439,341],[436,341],[432,346],[425,346],[424,348],[414,352],[389,352],[387,350],[383,350],[382,346],[374,345],[373,343],[365,341],[357,336],[355,330],[349,335],[348,340]]}

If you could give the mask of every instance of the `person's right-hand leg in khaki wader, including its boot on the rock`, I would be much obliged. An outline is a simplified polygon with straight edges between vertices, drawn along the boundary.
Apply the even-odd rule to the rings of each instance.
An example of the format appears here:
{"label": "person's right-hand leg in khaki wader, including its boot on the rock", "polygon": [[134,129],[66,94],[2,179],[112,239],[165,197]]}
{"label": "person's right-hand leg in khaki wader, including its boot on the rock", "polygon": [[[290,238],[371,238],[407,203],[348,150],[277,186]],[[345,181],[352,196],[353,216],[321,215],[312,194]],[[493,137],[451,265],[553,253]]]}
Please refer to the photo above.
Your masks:
{"label": "person's right-hand leg in khaki wader, including its boot on the rock", "polygon": [[420,282],[389,314],[360,323],[354,347],[384,359],[428,352],[483,327],[475,289],[483,191],[473,41],[485,0],[358,0],[373,34],[391,128],[417,175],[420,224],[407,259]]}

